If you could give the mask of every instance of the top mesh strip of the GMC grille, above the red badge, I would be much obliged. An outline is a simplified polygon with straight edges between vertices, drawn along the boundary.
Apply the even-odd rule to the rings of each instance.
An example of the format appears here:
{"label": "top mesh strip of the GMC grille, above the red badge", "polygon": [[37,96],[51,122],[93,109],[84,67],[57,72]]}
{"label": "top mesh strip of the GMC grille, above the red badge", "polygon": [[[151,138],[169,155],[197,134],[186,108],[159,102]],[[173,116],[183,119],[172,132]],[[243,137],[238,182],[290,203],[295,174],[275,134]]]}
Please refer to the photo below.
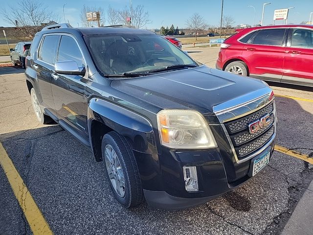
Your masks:
{"label": "top mesh strip of the GMC grille, above the red badge", "polygon": [[241,118],[236,121],[232,121],[229,124],[227,124],[227,127],[230,131],[230,133],[235,133],[243,128],[245,128],[250,122],[260,119],[265,114],[271,114],[273,112],[273,104],[266,106],[265,108],[257,111],[256,113],[249,115],[245,118]]}

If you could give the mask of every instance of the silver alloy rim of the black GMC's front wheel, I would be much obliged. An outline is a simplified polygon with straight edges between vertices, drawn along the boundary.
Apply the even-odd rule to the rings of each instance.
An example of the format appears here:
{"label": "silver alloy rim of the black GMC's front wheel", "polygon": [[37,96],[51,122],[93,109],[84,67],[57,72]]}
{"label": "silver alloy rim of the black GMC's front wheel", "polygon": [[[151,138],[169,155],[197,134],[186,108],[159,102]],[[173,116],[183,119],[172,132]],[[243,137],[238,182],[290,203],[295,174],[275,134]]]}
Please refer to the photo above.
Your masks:
{"label": "silver alloy rim of the black GMC's front wheel", "polygon": [[123,198],[125,196],[125,178],[121,163],[110,144],[107,144],[105,147],[105,164],[112,187],[117,195]]}

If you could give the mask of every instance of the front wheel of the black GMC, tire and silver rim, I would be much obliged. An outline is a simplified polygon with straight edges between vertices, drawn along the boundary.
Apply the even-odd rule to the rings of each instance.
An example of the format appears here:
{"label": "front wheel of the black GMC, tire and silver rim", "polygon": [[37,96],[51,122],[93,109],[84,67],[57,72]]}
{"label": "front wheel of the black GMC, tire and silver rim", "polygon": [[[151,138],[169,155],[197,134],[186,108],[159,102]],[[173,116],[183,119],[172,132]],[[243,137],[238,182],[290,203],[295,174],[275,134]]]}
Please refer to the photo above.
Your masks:
{"label": "front wheel of the black GMC, tire and silver rim", "polygon": [[102,159],[115,199],[125,208],[139,205],[144,194],[134,153],[126,139],[114,131],[104,135]]}

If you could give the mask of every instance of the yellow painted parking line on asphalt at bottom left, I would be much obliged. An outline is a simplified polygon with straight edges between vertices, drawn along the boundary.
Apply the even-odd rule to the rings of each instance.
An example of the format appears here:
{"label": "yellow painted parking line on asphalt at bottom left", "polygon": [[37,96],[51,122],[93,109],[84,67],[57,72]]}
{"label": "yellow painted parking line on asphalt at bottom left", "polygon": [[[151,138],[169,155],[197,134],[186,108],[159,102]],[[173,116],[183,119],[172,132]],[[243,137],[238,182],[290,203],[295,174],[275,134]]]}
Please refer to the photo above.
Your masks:
{"label": "yellow painted parking line on asphalt at bottom left", "polygon": [[0,164],[34,235],[53,235],[45,217],[26,188],[19,172],[0,143]]}

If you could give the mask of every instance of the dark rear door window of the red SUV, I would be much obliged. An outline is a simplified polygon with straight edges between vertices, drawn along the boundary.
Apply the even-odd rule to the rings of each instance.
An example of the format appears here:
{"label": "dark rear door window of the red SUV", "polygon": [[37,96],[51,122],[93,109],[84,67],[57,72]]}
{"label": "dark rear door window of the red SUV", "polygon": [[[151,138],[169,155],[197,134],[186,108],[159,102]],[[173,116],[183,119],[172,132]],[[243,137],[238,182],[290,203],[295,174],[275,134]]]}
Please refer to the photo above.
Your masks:
{"label": "dark rear door window of the red SUV", "polygon": [[282,46],[285,28],[263,29],[253,39],[253,44]]}

